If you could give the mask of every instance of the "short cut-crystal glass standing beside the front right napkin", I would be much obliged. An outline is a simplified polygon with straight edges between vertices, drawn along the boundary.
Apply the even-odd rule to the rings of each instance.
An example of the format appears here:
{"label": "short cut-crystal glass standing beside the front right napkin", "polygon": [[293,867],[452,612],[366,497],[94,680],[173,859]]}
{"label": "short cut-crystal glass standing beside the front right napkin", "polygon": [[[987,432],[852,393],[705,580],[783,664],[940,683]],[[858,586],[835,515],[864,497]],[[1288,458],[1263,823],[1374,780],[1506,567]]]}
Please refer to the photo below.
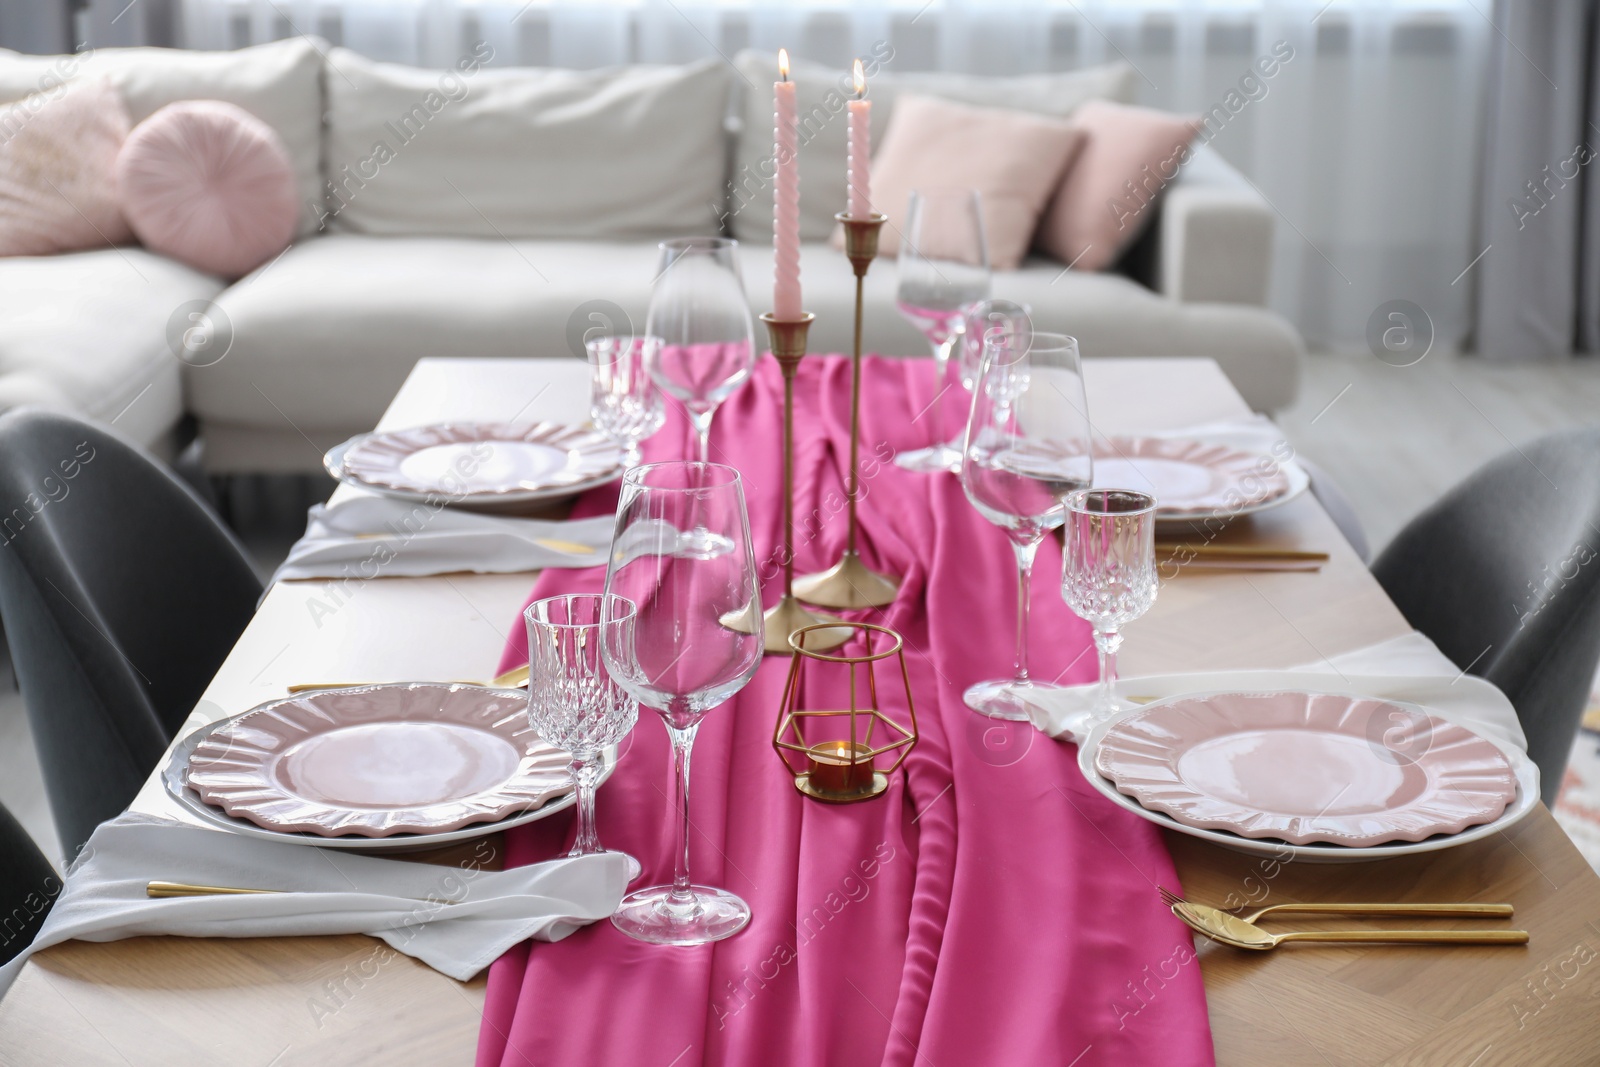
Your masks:
{"label": "short cut-crystal glass standing beside the front right napkin", "polygon": [[1133,490],[1080,490],[1067,496],[1061,597],[1094,627],[1101,680],[1090,710],[1070,723],[1085,736],[1123,709],[1117,701],[1122,627],[1155,603],[1155,498]]}

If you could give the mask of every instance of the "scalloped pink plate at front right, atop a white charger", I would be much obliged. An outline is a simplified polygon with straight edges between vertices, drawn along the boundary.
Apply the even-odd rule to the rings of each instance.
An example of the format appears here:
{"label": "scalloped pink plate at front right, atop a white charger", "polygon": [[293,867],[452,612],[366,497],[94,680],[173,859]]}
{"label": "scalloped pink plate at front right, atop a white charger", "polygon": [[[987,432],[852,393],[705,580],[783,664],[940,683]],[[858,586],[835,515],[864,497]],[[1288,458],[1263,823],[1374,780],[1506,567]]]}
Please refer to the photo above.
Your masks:
{"label": "scalloped pink plate at front right, atop a white charger", "polygon": [[1419,707],[1331,693],[1218,693],[1120,720],[1096,768],[1179,822],[1291,845],[1458,833],[1517,795],[1510,763]]}

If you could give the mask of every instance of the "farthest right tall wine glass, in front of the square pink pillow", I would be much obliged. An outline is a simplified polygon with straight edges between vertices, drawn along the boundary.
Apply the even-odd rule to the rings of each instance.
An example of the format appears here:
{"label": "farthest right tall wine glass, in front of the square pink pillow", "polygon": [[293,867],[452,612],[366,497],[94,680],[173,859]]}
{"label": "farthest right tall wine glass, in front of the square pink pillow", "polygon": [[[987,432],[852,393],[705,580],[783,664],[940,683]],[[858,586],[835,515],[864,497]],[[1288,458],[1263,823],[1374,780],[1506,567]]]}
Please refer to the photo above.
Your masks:
{"label": "farthest right tall wine glass, in front of the square pink pillow", "polygon": [[944,387],[950,350],[966,312],[989,296],[989,246],[976,189],[912,190],[901,230],[894,301],[933,346],[933,443],[901,453],[907,470],[955,470],[958,448],[944,440]]}

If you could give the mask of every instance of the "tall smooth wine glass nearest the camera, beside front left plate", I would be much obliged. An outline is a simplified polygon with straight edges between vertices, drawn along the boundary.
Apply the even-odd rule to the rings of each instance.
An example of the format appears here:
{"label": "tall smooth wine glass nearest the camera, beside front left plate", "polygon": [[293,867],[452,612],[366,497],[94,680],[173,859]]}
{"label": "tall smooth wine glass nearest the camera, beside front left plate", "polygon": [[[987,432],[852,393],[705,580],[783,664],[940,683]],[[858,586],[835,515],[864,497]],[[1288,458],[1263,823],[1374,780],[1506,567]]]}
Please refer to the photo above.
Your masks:
{"label": "tall smooth wine glass nearest the camera, beside front left plate", "polygon": [[[706,544],[726,547],[694,547]],[[605,589],[637,605],[632,625],[606,621],[602,651],[618,685],[667,726],[678,822],[672,885],[627,894],[611,921],[654,944],[720,941],[744,928],[750,907],[690,881],[690,749],[706,712],[762,662],[762,592],[739,472],[661,462],[622,475]]]}

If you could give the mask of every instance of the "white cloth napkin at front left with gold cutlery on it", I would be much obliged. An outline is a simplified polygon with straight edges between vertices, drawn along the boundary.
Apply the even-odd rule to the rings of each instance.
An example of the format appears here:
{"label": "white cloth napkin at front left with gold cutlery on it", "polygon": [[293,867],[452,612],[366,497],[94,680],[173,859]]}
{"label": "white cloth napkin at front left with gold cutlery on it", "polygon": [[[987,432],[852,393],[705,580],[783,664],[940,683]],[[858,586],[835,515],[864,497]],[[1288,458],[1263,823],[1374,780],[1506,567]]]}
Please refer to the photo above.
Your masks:
{"label": "white cloth napkin at front left with gold cutlery on it", "polygon": [[[528,937],[606,918],[638,873],[622,853],[504,872],[486,857],[486,843],[458,867],[352,856],[125,813],[94,830],[38,937],[0,968],[0,997],[38,949],[147,934],[371,934],[464,982]],[[290,893],[150,899],[154,880]]]}

